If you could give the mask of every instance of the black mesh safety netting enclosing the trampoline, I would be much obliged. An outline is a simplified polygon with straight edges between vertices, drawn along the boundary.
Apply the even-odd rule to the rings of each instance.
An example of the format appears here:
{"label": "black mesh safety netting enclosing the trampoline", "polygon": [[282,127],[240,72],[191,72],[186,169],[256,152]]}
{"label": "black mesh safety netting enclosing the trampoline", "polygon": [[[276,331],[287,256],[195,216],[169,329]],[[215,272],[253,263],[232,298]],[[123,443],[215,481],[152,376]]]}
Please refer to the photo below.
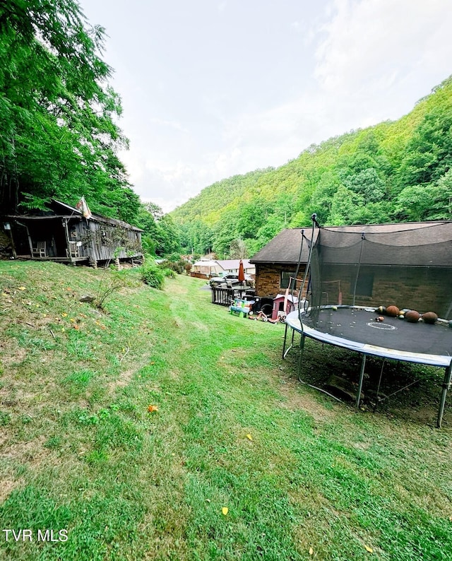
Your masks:
{"label": "black mesh safety netting enclosing the trampoline", "polygon": [[[321,331],[326,326],[320,312],[326,305],[395,305],[451,320],[452,225],[435,223],[401,232],[321,228],[311,256],[310,288],[306,321]],[[333,324],[328,330],[340,331]],[[427,331],[427,339],[430,334],[433,338],[433,331]],[[445,336],[452,338],[452,329]],[[429,347],[428,341],[424,347]]]}

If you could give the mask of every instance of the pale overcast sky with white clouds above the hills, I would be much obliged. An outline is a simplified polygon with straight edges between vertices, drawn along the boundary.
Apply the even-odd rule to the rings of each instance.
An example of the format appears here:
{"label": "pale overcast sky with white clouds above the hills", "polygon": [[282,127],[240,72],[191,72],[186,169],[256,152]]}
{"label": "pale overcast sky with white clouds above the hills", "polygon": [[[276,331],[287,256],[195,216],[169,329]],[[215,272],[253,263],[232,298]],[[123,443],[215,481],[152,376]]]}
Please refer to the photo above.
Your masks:
{"label": "pale overcast sky with white clouds above the hills", "polygon": [[452,74],[450,0],[79,0],[105,28],[120,158],[167,213],[409,113]]}

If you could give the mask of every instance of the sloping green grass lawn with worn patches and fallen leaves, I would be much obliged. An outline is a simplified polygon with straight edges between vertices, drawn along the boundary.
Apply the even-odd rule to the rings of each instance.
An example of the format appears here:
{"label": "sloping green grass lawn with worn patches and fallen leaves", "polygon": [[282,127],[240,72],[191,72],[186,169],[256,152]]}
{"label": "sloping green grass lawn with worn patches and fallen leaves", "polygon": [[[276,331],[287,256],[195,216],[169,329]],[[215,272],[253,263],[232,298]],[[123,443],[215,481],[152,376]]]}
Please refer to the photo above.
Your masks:
{"label": "sloping green grass lawn with worn patches and fallen leaves", "polygon": [[[0,261],[0,559],[452,559],[442,372],[355,411],[283,325],[126,275],[100,312],[110,271]],[[308,341],[305,373],[355,360]]]}

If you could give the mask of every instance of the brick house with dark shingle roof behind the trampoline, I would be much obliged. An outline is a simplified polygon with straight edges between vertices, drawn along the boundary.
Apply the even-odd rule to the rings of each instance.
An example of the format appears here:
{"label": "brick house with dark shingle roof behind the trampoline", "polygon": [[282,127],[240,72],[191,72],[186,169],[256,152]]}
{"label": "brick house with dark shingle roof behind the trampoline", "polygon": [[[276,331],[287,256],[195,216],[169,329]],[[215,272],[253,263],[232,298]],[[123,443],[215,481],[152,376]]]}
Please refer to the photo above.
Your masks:
{"label": "brick house with dark shingle roof behind the trampoline", "polygon": [[[311,235],[311,228],[283,230],[251,257],[256,295],[275,298],[299,289]],[[314,242],[319,235],[321,259],[314,255],[311,263],[321,267],[316,305],[392,302],[451,316],[452,221],[316,228]],[[305,282],[303,297],[307,289]]]}

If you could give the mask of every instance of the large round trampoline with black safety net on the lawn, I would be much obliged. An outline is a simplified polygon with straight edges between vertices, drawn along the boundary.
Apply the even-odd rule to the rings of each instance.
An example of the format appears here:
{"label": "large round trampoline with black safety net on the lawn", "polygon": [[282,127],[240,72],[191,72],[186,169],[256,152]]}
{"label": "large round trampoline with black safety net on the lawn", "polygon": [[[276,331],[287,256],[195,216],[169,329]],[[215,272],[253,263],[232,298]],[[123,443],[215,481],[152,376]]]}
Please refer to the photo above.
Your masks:
{"label": "large round trampoline with black safety net on the lawn", "polygon": [[[315,234],[313,226],[311,240],[315,242],[311,244],[307,264],[309,275],[305,275],[309,278],[311,305],[305,301],[304,307],[287,315],[283,343],[285,358],[295,346],[295,333],[301,336],[300,381],[303,382],[301,367],[307,337],[362,355],[357,407],[362,397],[368,356],[441,367],[444,368],[444,382],[437,418],[437,425],[441,427],[452,379],[452,329],[449,326],[452,256],[446,261],[443,259],[441,266],[436,266],[435,256],[437,259],[439,255],[444,256],[446,243],[448,253],[452,253],[452,223],[438,224],[439,229],[429,231],[424,237],[420,237],[418,228],[411,229],[410,225],[408,235],[407,230],[400,235],[395,230],[379,232],[376,226],[358,227],[369,228],[370,232],[353,231],[350,227],[320,228]],[[427,243],[428,240],[433,241]],[[427,264],[422,263],[427,256]],[[396,317],[383,314],[382,317],[378,308],[385,296],[387,305],[400,302],[408,309],[421,308],[421,313],[434,309],[439,319],[427,324],[422,319],[410,322],[403,314]],[[360,305],[369,300],[374,303]]]}

